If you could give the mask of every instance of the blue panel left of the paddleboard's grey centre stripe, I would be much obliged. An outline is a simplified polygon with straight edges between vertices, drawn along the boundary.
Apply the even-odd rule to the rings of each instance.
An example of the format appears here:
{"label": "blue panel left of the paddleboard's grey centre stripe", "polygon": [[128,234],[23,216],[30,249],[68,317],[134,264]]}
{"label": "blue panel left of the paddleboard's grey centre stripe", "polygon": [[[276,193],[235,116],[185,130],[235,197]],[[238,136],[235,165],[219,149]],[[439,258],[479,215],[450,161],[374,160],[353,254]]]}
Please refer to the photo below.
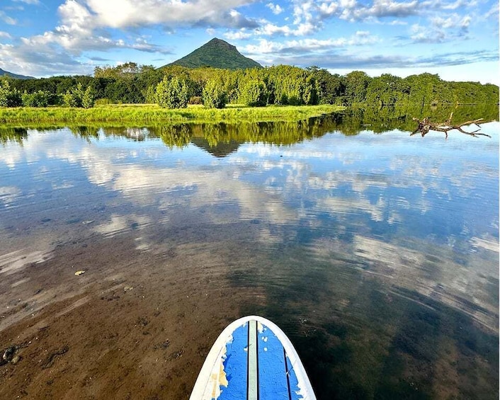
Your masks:
{"label": "blue panel left of the paddleboard's grey centre stripe", "polygon": [[246,400],[248,326],[246,322],[237,328],[232,334],[232,343],[226,345],[226,360],[223,364],[228,384],[227,387],[220,387],[221,394],[217,400]]}

